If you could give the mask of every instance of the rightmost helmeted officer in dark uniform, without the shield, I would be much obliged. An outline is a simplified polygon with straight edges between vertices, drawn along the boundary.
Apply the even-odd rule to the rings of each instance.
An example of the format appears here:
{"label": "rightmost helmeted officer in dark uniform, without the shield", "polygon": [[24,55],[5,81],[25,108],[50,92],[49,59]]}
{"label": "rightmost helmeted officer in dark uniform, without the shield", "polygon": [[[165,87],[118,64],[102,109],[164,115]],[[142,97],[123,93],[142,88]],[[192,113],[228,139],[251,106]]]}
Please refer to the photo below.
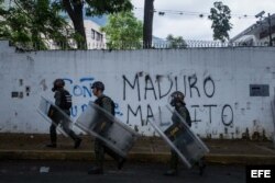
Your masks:
{"label": "rightmost helmeted officer in dark uniform, without the shield", "polygon": [[[184,93],[179,91],[175,91],[170,94],[169,102],[170,102],[170,105],[175,107],[175,111],[186,121],[186,123],[190,127],[191,118],[190,118],[189,111],[186,107],[184,99],[185,99]],[[182,123],[176,113],[173,113],[172,121],[174,124]],[[199,160],[197,164],[199,165],[199,174],[202,174],[204,169],[206,167],[204,161]],[[177,171],[178,171],[178,155],[174,150],[170,150],[169,170],[165,172],[164,174],[173,176],[173,175],[177,175]]]}

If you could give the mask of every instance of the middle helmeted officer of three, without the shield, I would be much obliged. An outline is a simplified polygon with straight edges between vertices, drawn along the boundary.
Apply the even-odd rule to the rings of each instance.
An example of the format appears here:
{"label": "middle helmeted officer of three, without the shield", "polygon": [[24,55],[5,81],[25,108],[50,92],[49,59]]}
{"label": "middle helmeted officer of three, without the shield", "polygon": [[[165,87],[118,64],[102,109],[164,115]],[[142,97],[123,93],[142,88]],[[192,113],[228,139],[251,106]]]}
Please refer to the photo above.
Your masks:
{"label": "middle helmeted officer of three, without the shield", "polygon": [[[114,103],[113,101],[103,94],[105,84],[101,81],[96,81],[91,85],[92,93],[97,96],[95,103],[102,107],[108,113],[114,115]],[[102,174],[103,173],[103,161],[105,161],[105,153],[108,153],[113,159],[118,161],[118,169],[121,169],[124,159],[116,155],[111,149],[105,146],[105,142],[100,139],[95,139],[95,158],[96,158],[96,165],[88,171],[88,174]]]}

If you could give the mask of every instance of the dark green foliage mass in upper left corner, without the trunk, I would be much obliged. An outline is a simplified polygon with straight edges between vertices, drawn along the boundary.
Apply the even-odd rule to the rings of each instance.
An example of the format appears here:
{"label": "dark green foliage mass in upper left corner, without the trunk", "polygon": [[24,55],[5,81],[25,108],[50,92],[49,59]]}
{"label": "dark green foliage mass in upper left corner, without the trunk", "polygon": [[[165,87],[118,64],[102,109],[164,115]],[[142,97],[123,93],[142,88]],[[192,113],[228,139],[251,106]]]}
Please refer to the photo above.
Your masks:
{"label": "dark green foliage mass in upper left corner, without the trunk", "polygon": [[73,38],[70,27],[50,0],[14,0],[10,8],[3,5],[3,0],[0,3],[1,38],[23,49],[47,49],[50,42],[69,46],[68,38]]}

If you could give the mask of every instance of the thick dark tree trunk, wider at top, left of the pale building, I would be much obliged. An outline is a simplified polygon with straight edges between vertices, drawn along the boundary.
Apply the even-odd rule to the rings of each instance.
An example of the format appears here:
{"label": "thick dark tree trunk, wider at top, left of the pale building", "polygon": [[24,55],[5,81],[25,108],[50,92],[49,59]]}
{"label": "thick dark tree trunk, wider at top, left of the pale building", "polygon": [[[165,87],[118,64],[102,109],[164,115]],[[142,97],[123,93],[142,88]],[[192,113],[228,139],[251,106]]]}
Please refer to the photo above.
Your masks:
{"label": "thick dark tree trunk, wider at top, left of the pale building", "polygon": [[63,5],[73,21],[75,32],[80,36],[80,38],[76,39],[77,48],[87,49],[86,33],[84,27],[82,1],[63,0]]}

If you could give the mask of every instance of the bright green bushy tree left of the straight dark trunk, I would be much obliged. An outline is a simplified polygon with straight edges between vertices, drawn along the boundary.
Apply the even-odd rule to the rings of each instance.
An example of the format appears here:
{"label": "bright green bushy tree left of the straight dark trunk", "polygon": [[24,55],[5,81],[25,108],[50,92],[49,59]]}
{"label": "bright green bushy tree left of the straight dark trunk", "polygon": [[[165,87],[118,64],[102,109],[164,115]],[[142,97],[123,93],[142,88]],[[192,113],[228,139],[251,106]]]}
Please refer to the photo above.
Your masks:
{"label": "bright green bushy tree left of the straight dark trunk", "polygon": [[107,46],[110,49],[142,47],[142,22],[130,11],[109,15],[108,23],[101,31],[107,35]]}

